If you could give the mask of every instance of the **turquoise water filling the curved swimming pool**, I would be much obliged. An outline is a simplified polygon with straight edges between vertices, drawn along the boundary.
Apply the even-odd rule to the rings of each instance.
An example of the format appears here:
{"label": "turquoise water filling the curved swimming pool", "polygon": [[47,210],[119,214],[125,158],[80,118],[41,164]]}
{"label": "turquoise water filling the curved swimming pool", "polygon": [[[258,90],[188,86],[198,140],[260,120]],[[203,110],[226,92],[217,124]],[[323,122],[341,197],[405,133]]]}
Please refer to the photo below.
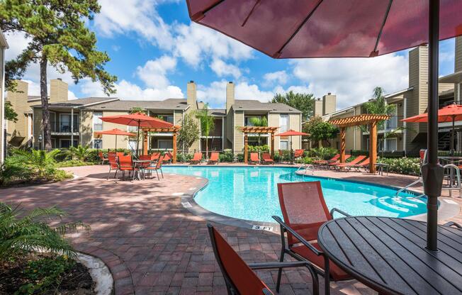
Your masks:
{"label": "turquoise water filling the curved swimming pool", "polygon": [[312,182],[320,180],[329,209],[339,208],[351,215],[407,217],[426,213],[424,199],[411,199],[396,190],[371,184],[339,179],[304,177],[291,167],[216,167],[164,166],[166,173],[205,177],[209,183],[195,196],[197,204],[224,216],[272,222],[281,216],[276,184],[280,182]]}

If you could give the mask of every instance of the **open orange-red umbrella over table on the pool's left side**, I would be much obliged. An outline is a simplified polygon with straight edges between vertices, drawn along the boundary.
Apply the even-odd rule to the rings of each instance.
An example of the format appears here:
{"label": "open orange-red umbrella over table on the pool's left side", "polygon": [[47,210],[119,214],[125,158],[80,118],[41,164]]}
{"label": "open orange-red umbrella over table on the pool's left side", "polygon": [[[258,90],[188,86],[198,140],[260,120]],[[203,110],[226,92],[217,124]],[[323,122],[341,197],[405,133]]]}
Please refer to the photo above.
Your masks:
{"label": "open orange-red umbrella over table on the pool's left side", "polygon": [[140,127],[150,128],[169,128],[173,124],[159,118],[147,116],[144,113],[128,113],[126,115],[101,117],[101,121],[111,122],[121,125],[137,126],[136,137],[136,155],[138,156],[138,147],[140,147]]}

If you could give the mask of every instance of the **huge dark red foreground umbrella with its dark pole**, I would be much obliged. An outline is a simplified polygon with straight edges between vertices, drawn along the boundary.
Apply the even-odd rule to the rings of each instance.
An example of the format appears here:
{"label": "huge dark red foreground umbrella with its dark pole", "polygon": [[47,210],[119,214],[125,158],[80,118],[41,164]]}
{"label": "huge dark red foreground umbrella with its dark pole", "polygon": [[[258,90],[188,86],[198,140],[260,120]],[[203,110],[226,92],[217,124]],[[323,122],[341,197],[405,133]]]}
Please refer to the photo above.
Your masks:
{"label": "huge dark red foreground umbrella with its dark pole", "polygon": [[[429,43],[427,248],[437,250],[439,40],[462,35],[461,0],[186,0],[191,20],[274,58],[375,57]],[[441,2],[441,4],[440,4]]]}

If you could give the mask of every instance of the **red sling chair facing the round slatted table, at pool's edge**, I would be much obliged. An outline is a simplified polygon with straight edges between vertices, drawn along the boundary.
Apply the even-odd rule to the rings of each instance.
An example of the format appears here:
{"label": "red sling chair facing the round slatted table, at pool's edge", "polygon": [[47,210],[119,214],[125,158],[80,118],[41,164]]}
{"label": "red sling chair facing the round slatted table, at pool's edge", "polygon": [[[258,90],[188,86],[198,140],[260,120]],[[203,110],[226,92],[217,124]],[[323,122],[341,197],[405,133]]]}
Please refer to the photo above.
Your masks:
{"label": "red sling chair facing the round slatted table, at pool's edge", "polygon": [[[279,261],[284,261],[284,255],[288,254],[296,260],[310,262],[313,280],[313,294],[317,292],[314,286],[318,285],[318,275],[324,277],[325,293],[329,294],[330,279],[334,281],[351,279],[349,275],[329,261],[317,244],[317,230],[323,223],[333,219],[334,212],[344,216],[349,214],[332,208],[329,212],[322,196],[321,183],[317,182],[291,182],[278,184],[279,204],[284,221],[279,216],[273,216],[281,226],[281,256]],[[287,242],[284,238],[287,233]],[[276,283],[276,291],[281,284],[281,271],[279,269]]]}

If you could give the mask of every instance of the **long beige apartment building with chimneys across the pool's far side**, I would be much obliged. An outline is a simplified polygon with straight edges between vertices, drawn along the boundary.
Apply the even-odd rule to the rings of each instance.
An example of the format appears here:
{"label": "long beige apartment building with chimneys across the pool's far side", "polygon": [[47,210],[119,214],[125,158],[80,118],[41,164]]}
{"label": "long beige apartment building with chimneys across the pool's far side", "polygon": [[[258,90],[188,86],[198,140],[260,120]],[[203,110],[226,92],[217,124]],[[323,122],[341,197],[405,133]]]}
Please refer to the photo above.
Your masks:
{"label": "long beige apartment building with chimneys across the pool's far side", "polygon": [[[9,125],[9,142],[16,143],[23,138],[21,144],[30,140],[33,147],[41,148],[43,143],[42,108],[40,98],[35,101],[34,96],[28,96],[27,83],[21,82],[21,92],[9,93],[13,106],[24,114],[20,123]],[[162,118],[164,121],[181,125],[181,121],[188,113],[203,108],[203,102],[197,100],[196,83],[188,82],[186,99],[164,99],[162,101],[131,101],[120,98],[89,97],[84,99],[67,99],[67,84],[61,80],[52,80],[50,89],[50,123],[52,126],[52,147],[69,147],[71,145],[89,145],[94,148],[113,148],[116,138],[111,135],[96,135],[96,131],[112,128],[126,128],[136,131],[136,127],[121,126],[114,123],[102,122],[101,116],[114,116],[130,112],[132,108],[143,108],[149,116]],[[53,86],[55,85],[55,86]],[[235,98],[235,84],[227,83],[226,108],[209,109],[215,117],[215,128],[206,138],[201,135],[191,147],[190,151],[232,149],[242,152],[244,135],[241,126],[251,126],[252,117],[265,117],[269,126],[280,127],[279,130],[301,130],[301,112],[286,104],[261,103],[250,99]],[[21,104],[19,101],[22,101]],[[14,136],[13,136],[14,135]],[[18,138],[20,137],[20,138]],[[249,144],[257,144],[258,136],[249,134]],[[135,148],[135,140],[119,136],[118,147]],[[148,145],[150,149],[168,150],[173,147],[173,135],[169,133],[149,133]],[[275,149],[290,148],[289,138],[277,138]],[[271,144],[268,135],[261,135],[261,144]],[[300,138],[293,138],[293,148],[300,148]],[[181,148],[181,147],[180,147]]]}

